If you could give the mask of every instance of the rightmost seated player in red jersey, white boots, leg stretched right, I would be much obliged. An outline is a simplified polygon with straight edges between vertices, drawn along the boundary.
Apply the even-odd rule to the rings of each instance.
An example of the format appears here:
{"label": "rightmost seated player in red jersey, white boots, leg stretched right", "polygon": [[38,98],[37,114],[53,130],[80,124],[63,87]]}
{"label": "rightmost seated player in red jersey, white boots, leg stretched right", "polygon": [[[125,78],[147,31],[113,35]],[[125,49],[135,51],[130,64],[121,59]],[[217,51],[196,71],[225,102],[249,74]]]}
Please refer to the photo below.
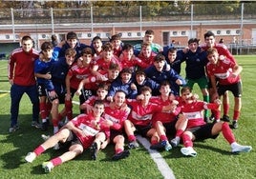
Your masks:
{"label": "rightmost seated player in red jersey, white boots, leg stretched right", "polygon": [[[215,100],[215,103],[205,103],[203,101],[195,100],[191,89],[185,87],[181,89],[181,112],[185,116],[187,123],[186,129],[181,135],[184,147],[181,148],[181,153],[186,156],[197,156],[197,152],[193,149],[193,142],[195,140],[204,140],[207,138],[217,138],[220,132],[223,133],[225,140],[230,144],[231,151],[248,152],[252,148],[250,146],[242,146],[236,142],[232,130],[228,123],[220,121],[216,123],[206,124],[203,121],[204,109],[217,109],[221,101]],[[218,110],[219,111],[219,110]],[[219,111],[220,116],[220,111]]]}

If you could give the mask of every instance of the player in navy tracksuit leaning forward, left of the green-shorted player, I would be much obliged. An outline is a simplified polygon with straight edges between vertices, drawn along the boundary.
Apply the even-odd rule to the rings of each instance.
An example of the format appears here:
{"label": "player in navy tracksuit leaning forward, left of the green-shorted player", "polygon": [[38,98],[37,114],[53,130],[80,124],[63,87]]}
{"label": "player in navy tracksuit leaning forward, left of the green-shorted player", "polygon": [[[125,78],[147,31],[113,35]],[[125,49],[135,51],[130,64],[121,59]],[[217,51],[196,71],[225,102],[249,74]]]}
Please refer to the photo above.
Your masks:
{"label": "player in navy tracksuit leaning forward, left of the green-shorted player", "polygon": [[179,86],[185,85],[185,80],[175,70],[164,70],[165,57],[159,53],[154,58],[154,65],[151,65],[145,70],[147,77],[151,78],[155,82],[169,81],[171,83],[171,89],[174,95],[179,95]]}

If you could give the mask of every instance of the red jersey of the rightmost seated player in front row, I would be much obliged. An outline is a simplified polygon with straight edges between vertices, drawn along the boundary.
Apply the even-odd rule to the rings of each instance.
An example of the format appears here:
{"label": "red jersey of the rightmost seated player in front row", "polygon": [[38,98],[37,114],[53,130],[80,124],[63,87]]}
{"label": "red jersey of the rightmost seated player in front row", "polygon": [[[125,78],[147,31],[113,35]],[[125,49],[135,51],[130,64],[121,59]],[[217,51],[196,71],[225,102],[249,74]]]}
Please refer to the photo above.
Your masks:
{"label": "red jersey of the rightmost seated player in front row", "polygon": [[188,120],[187,129],[203,126],[206,124],[203,120],[204,109],[218,109],[217,104],[207,104],[203,101],[193,101],[192,103],[182,103],[181,112]]}

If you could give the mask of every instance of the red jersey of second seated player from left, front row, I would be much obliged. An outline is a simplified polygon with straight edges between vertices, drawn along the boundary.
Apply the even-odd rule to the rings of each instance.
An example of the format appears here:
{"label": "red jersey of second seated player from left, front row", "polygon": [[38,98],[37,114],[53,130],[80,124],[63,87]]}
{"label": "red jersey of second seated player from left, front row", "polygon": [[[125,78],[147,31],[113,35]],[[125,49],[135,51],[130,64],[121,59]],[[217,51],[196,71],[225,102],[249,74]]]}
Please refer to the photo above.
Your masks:
{"label": "red jersey of second seated player from left, front row", "polygon": [[128,111],[105,107],[103,117],[113,122],[114,125],[111,127],[111,129],[121,131],[123,129],[123,123],[127,119],[128,115]]}

